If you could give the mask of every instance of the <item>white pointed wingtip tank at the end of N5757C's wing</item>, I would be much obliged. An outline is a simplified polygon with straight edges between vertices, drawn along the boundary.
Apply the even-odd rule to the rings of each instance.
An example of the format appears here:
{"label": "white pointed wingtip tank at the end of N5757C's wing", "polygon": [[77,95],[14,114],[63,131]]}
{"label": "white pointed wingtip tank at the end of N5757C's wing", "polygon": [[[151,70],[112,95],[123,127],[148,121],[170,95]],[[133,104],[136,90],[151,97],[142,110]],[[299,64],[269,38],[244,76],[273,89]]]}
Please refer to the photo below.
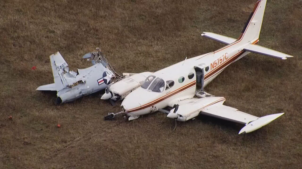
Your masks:
{"label": "white pointed wingtip tank at the end of N5757C's wing", "polygon": [[284,113],[278,113],[278,114],[266,115],[266,116],[260,117],[257,120],[252,121],[252,122],[248,123],[246,126],[244,126],[239,131],[238,134],[245,134],[245,133],[255,131],[259,128],[262,128],[263,126],[265,126],[266,124],[270,123],[271,121],[275,120],[276,118],[280,117],[283,114]]}

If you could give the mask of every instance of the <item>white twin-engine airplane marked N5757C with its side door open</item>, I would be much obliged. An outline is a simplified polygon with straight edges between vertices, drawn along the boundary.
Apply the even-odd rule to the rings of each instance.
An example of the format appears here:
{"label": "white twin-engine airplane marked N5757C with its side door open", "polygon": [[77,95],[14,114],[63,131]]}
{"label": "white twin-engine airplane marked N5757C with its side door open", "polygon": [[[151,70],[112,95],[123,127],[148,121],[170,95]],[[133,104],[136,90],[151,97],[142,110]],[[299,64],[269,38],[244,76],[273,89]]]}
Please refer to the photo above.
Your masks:
{"label": "white twin-engine airplane marked N5757C with its side door open", "polygon": [[[187,121],[202,114],[245,124],[246,126],[239,131],[239,134],[244,134],[255,131],[283,115],[284,113],[278,113],[256,117],[223,105],[226,100],[224,97],[215,97],[203,91],[204,87],[227,66],[250,52],[280,59],[292,57],[256,45],[259,41],[265,5],[266,0],[257,1],[238,39],[203,32],[202,36],[222,42],[226,46],[211,53],[186,59],[157,72],[149,72],[150,75],[142,85],[125,97],[121,104],[123,110],[116,114],[110,113],[105,119],[125,113],[129,116],[129,120],[133,120],[140,115],[160,111],[177,121]],[[131,79],[131,76],[129,78]],[[112,87],[114,85],[115,88],[119,85],[119,88],[125,87],[126,83],[122,81],[112,84]],[[108,95],[107,91],[107,95],[104,96],[114,97],[114,91],[110,89],[109,91],[111,95]],[[199,98],[194,97],[195,95]]]}

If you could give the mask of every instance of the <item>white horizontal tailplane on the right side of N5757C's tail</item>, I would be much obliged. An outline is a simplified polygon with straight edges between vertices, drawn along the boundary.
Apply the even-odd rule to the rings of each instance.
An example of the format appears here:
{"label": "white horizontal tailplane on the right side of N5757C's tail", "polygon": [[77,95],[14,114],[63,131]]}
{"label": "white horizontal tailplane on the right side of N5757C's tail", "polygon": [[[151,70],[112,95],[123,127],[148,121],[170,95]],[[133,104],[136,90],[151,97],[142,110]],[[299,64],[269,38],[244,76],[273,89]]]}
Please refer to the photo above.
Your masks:
{"label": "white horizontal tailplane on the right side of N5757C's tail", "polygon": [[288,57],[293,57],[291,55],[284,54],[284,53],[281,53],[278,51],[274,51],[274,50],[271,50],[271,49],[268,49],[268,48],[265,48],[265,47],[262,47],[259,45],[248,45],[243,50],[248,51],[248,52],[253,52],[256,54],[263,54],[263,55],[270,56],[270,57],[276,57],[276,58],[283,59],[283,60],[287,59]]}

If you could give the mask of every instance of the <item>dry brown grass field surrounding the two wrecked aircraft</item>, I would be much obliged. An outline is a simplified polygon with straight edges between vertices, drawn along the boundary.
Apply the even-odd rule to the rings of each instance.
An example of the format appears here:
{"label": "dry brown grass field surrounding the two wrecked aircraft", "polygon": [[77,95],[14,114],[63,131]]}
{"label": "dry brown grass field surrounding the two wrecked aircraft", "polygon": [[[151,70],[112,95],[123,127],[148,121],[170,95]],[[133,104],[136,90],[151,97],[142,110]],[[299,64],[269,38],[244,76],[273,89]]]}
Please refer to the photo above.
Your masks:
{"label": "dry brown grass field surrounding the two wrecked aircraft", "polygon": [[90,66],[82,55],[101,47],[119,73],[154,72],[223,46],[203,31],[237,38],[254,4],[0,0],[0,168],[301,168],[301,0],[268,0],[260,34],[259,45],[293,58],[249,54],[205,89],[252,115],[285,112],[252,133],[207,116],[173,131],[158,112],[104,121],[120,107],[99,94],[55,106],[56,93],[35,91],[53,83],[56,51],[73,70]]}

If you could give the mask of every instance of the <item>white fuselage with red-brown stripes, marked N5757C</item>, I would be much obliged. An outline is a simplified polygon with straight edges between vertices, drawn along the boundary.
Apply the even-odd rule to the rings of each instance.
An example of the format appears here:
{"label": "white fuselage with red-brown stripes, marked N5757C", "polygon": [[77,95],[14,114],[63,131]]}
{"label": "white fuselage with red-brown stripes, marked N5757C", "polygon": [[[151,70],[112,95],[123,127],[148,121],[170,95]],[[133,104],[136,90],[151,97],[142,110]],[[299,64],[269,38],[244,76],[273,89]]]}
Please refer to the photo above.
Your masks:
{"label": "white fuselage with red-brown stripes, marked N5757C", "polygon": [[[196,69],[202,70],[204,77],[202,86],[205,87],[227,66],[249,53],[243,51],[244,46],[257,42],[258,39],[255,39],[243,44],[239,39],[217,51],[193,57],[154,72],[150,76],[155,78],[149,86],[147,88],[139,87],[131,92],[125,97],[121,106],[124,112],[130,116],[148,114],[167,106],[173,107],[177,101],[192,98],[195,92],[200,90]],[[165,84],[157,91],[152,91],[150,88],[154,87],[152,84],[155,83],[156,78],[162,79]],[[171,81],[174,82],[174,85],[169,88],[167,85]],[[160,86],[160,84],[158,85]]]}

